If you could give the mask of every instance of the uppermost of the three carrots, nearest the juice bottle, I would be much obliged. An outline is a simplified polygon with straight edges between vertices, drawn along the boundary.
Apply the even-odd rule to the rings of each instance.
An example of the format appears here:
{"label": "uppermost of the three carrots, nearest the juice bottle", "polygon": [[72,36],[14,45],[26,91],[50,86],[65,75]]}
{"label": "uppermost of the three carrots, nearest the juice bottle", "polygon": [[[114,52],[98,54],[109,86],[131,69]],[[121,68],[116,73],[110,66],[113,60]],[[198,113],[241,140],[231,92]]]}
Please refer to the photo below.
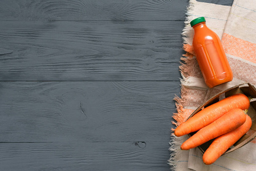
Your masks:
{"label": "uppermost of the three carrots, nearest the juice bottle", "polygon": [[209,125],[214,120],[217,120],[231,109],[240,108],[243,111],[250,106],[250,100],[246,95],[238,93],[225,99],[218,101],[197,112],[184,123],[180,124],[174,131],[177,137],[184,136],[190,132],[198,131],[199,129]]}

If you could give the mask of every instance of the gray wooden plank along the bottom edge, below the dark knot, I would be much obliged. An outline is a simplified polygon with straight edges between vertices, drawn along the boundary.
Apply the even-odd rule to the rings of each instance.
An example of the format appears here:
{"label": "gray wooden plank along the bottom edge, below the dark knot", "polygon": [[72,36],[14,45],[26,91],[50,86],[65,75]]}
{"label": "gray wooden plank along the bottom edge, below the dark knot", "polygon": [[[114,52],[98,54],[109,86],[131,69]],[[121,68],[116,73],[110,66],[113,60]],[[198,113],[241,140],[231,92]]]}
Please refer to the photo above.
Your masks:
{"label": "gray wooden plank along the bottom edge, below the dark knot", "polygon": [[1,170],[168,170],[168,143],[3,143]]}

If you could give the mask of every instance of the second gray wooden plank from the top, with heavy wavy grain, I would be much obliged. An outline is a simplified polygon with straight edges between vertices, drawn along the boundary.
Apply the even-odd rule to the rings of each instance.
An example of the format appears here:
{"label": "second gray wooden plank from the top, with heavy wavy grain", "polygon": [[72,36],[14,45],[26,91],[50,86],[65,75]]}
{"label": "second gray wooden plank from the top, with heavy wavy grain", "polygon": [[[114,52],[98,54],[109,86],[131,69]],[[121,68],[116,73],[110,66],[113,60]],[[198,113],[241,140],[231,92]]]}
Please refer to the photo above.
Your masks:
{"label": "second gray wooden plank from the top, with heavy wavy grain", "polygon": [[179,81],[183,26],[175,21],[1,22],[0,80]]}

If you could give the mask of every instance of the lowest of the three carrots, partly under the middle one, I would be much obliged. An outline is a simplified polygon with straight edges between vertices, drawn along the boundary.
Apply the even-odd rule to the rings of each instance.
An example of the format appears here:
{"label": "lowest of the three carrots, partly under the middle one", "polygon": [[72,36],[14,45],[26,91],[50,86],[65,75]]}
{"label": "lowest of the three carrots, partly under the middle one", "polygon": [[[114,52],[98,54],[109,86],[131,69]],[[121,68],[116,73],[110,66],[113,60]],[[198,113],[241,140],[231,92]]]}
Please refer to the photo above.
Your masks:
{"label": "lowest of the three carrots, partly under the middle one", "polygon": [[246,121],[234,131],[225,133],[217,137],[202,156],[206,165],[213,164],[222,154],[226,152],[235,142],[237,142],[251,128],[251,118],[246,115]]}

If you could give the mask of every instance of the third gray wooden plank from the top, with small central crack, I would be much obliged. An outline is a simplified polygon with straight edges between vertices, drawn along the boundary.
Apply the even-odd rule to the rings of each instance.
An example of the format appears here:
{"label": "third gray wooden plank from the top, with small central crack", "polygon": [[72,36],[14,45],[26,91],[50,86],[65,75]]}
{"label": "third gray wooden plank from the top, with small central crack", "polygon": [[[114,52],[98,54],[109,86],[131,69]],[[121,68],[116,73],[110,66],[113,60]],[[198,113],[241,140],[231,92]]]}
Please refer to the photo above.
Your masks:
{"label": "third gray wooden plank from the top, with small central crack", "polygon": [[1,82],[0,143],[168,143],[178,83]]}

